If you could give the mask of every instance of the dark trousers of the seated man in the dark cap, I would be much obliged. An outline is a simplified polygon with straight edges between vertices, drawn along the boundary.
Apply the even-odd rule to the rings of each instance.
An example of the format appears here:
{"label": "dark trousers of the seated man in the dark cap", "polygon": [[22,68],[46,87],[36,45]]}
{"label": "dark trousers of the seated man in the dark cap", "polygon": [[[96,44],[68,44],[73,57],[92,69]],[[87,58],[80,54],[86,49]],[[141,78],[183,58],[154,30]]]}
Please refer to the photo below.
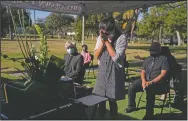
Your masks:
{"label": "dark trousers of the seated man in the dark cap", "polygon": [[[133,81],[128,88],[128,107],[136,108],[136,93],[143,91],[142,81]],[[146,88],[146,115],[153,115],[153,108],[155,103],[155,95],[166,92],[166,85],[162,83],[156,83]]]}

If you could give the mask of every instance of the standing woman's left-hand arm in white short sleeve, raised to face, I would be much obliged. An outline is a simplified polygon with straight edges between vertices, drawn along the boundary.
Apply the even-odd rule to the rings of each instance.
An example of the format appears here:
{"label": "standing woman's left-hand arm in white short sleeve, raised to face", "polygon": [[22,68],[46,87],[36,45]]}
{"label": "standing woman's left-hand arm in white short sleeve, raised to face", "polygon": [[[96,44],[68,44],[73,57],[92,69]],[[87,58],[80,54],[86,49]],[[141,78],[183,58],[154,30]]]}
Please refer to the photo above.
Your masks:
{"label": "standing woman's left-hand arm in white short sleeve, raised to face", "polygon": [[97,59],[99,59],[102,53],[103,47],[104,47],[104,42],[101,40],[101,37],[99,36],[97,39],[95,50],[94,50],[94,55]]}

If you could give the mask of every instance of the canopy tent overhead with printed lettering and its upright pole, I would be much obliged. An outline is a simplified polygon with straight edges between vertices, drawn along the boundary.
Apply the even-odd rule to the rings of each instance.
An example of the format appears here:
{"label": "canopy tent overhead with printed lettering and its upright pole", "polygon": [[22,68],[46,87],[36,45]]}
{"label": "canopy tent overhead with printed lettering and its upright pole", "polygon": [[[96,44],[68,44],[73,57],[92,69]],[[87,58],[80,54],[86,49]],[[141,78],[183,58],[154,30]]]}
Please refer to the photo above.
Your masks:
{"label": "canopy tent overhead with printed lettering and its upright pole", "polygon": [[123,12],[175,1],[0,1],[1,5],[65,14],[82,15],[82,43],[84,41],[84,15]]}

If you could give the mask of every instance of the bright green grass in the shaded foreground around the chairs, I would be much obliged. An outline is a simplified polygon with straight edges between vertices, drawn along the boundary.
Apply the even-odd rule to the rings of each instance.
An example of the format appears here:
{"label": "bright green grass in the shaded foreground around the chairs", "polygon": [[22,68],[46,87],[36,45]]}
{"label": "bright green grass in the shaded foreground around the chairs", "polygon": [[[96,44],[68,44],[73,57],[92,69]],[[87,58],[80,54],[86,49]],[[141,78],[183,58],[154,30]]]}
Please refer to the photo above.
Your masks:
{"label": "bright green grass in the shaded foreground around the chairs", "polygon": [[[90,74],[89,77],[92,78],[93,75]],[[85,81],[87,82],[87,85],[93,87],[95,85],[96,79],[85,79]],[[127,90],[127,88],[126,88],[126,90]],[[138,99],[139,99],[140,95],[141,95],[140,92],[137,93],[136,104],[138,103]],[[143,102],[140,102],[140,106],[139,106],[141,108],[140,110],[132,112],[132,113],[125,113],[124,110],[125,110],[125,108],[127,108],[127,105],[128,105],[128,96],[126,94],[124,100],[120,100],[117,102],[118,103],[118,117],[117,117],[117,119],[118,120],[130,120],[130,119],[131,120],[137,120],[137,119],[141,120],[143,118],[143,116],[145,115],[145,106],[146,106],[145,97],[146,97],[146,95],[144,93],[142,96]],[[159,99],[160,95],[157,95],[156,97]],[[172,101],[172,98],[171,98],[171,101]],[[159,101],[159,100],[155,101],[156,107],[154,108],[154,114],[156,114],[156,115],[160,114],[160,112],[161,112],[161,108],[157,107],[157,105],[160,105],[160,104],[162,104],[162,101]],[[106,119],[110,119],[109,103],[107,102],[106,105],[107,105]],[[91,115],[92,108],[90,107],[88,110],[89,110],[88,115]],[[170,113],[169,111],[170,111],[169,107],[168,107],[168,105],[166,105],[164,107],[163,114],[169,114]],[[182,113],[180,110],[175,109],[175,108],[171,108],[171,111],[172,111],[171,112],[172,114],[181,114]],[[99,119],[99,112],[97,112],[96,117],[94,119],[96,119],[96,120]]]}

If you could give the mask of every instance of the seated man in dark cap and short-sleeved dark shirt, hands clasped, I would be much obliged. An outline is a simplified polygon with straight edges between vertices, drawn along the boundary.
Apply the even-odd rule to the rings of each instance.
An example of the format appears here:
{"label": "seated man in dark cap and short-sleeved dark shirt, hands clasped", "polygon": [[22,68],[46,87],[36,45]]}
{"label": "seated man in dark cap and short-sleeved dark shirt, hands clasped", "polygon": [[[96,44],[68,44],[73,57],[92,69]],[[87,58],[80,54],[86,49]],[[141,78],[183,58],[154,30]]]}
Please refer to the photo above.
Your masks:
{"label": "seated man in dark cap and short-sleeved dark shirt, hands clasped", "polygon": [[136,92],[146,90],[146,115],[143,119],[153,116],[155,94],[164,92],[166,87],[166,74],[168,71],[168,61],[165,56],[160,54],[161,45],[153,42],[150,47],[150,56],[144,60],[141,70],[141,80],[132,82],[128,89],[128,108],[127,113],[136,110]]}

